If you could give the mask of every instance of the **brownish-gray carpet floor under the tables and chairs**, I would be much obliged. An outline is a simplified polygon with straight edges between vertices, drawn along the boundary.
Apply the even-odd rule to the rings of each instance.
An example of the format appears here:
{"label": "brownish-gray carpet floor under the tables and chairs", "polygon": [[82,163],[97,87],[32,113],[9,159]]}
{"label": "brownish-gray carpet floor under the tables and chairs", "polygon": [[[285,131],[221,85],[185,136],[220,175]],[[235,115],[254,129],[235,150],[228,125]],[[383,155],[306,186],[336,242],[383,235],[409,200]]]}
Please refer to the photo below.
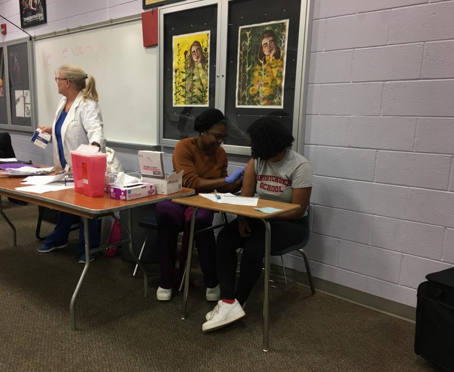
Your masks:
{"label": "brownish-gray carpet floor under the tables and chairs", "polygon": [[[211,334],[201,327],[213,303],[204,299],[200,272],[192,273],[188,317],[181,295],[150,296],[121,256],[91,264],[76,302],[77,331],[69,303],[83,265],[77,232],[71,244],[38,253],[37,207],[3,198],[18,231],[18,246],[0,216],[0,372],[16,371],[435,371],[413,352],[415,325],[326,294],[296,286],[270,291],[270,351],[262,351],[262,283],[246,317]],[[43,225],[43,232],[51,224]]]}

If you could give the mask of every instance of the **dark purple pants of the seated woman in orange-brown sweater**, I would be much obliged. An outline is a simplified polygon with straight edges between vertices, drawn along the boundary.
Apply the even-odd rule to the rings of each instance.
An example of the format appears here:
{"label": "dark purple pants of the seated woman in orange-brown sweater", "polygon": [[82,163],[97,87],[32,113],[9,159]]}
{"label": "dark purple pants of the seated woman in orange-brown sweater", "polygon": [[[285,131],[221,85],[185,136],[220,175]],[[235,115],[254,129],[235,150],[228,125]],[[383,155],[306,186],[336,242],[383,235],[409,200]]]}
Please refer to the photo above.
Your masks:
{"label": "dark purple pants of the seated woman in orange-brown sweater", "polygon": [[[158,249],[161,266],[159,287],[172,288],[174,285],[174,268],[176,261],[178,234],[185,229],[186,206],[170,200],[159,202],[156,205],[156,220],[158,223]],[[190,222],[186,222],[188,225]],[[195,229],[211,226],[213,212],[207,209],[197,211]],[[188,231],[189,234],[189,231]],[[199,262],[203,272],[203,280],[208,288],[218,285],[215,248],[216,240],[214,231],[205,231],[194,235],[194,240],[199,253]]]}

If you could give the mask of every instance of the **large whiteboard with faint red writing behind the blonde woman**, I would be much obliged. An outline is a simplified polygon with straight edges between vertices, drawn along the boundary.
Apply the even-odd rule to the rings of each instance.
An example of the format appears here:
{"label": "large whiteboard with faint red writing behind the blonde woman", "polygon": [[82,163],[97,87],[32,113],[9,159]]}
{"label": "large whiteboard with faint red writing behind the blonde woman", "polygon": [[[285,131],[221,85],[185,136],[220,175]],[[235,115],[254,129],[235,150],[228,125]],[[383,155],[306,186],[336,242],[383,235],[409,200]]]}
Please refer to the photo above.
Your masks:
{"label": "large whiteboard with faint red writing behind the blonde woman", "polygon": [[35,41],[39,125],[52,125],[67,63],[95,78],[107,141],[157,145],[157,49],[143,47],[140,19]]}

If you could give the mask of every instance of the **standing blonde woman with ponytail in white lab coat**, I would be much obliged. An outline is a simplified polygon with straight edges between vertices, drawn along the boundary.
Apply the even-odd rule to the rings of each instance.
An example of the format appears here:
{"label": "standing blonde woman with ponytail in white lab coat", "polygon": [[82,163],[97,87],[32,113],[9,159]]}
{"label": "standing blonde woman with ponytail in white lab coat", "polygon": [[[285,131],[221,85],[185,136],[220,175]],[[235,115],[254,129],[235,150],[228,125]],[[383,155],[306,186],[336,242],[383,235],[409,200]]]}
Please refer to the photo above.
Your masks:
{"label": "standing blonde woman with ponytail in white lab coat", "polygon": [[[93,145],[105,153],[105,136],[98,93],[93,76],[86,74],[79,66],[63,65],[55,71],[55,82],[63,96],[52,126],[38,126],[42,131],[52,134],[53,163],[55,167],[71,166],[71,150],[79,145]],[[59,212],[58,221],[38,252],[47,253],[68,245],[68,236],[74,216]],[[100,244],[97,220],[90,219],[88,224],[90,247]],[[85,263],[85,239],[83,223],[80,223],[78,251],[79,263]],[[90,256],[92,261],[94,256]]]}

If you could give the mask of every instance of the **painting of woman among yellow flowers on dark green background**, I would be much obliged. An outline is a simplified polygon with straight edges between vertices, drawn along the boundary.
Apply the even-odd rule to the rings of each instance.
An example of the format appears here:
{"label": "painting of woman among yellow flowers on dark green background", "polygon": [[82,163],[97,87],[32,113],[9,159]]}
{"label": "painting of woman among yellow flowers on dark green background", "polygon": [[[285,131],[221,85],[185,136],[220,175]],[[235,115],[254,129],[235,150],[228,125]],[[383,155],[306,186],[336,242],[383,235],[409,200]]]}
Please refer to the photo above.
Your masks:
{"label": "painting of woman among yellow flowers on dark green background", "polygon": [[237,108],[283,108],[288,30],[288,19],[239,27]]}

